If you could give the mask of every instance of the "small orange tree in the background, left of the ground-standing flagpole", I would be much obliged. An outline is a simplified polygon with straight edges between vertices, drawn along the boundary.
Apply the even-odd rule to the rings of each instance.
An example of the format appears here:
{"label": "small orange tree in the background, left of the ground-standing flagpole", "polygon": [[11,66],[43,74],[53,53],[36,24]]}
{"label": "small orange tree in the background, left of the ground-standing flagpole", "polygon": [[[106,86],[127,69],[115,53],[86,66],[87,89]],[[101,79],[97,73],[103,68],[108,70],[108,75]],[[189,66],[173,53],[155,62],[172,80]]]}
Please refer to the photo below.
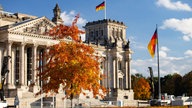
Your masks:
{"label": "small orange tree in the background, left of the ground-standing flagpole", "polygon": [[135,99],[146,100],[150,99],[150,85],[144,78],[139,78],[137,83],[135,84],[134,90],[134,97]]}

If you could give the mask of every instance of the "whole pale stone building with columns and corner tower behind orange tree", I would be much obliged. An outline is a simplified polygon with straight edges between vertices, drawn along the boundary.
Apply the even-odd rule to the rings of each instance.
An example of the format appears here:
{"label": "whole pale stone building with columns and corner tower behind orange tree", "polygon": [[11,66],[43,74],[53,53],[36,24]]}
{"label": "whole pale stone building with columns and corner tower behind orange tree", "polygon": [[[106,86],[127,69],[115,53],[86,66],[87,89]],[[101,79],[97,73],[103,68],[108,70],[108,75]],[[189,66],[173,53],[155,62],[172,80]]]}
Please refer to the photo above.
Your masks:
{"label": "whole pale stone building with columns and corner tower behind orange tree", "polygon": [[[29,85],[36,80],[36,70],[45,64],[42,53],[46,47],[58,43],[44,33],[52,27],[63,23],[60,18],[58,5],[53,9],[54,17],[36,17],[21,13],[9,13],[0,10],[0,69],[4,56],[11,56],[8,62],[9,73],[5,82],[5,98],[8,104],[13,105],[14,97],[20,99],[20,105],[28,107],[38,101],[34,94],[40,90],[42,82],[34,87]],[[128,101],[133,100],[131,89],[130,61],[132,51],[129,41],[126,41],[126,26],[114,20],[99,20],[85,25],[86,40],[95,48],[96,54],[102,57],[101,73],[107,76],[100,83],[110,92],[105,100]],[[66,40],[68,41],[68,40]],[[63,93],[56,95],[56,107],[63,105],[60,98]],[[92,98],[89,92],[80,98]],[[57,99],[58,98],[58,99]]]}

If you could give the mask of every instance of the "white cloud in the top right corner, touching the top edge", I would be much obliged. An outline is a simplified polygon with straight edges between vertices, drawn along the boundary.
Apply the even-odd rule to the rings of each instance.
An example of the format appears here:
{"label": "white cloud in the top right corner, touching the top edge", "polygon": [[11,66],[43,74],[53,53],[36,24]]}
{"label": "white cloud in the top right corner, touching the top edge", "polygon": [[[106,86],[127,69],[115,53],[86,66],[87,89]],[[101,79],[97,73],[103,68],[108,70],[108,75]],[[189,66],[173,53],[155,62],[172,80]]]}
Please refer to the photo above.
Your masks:
{"label": "white cloud in the top right corner, touching the top edge", "polygon": [[192,11],[192,8],[187,3],[182,3],[181,1],[157,0],[157,5],[171,10]]}

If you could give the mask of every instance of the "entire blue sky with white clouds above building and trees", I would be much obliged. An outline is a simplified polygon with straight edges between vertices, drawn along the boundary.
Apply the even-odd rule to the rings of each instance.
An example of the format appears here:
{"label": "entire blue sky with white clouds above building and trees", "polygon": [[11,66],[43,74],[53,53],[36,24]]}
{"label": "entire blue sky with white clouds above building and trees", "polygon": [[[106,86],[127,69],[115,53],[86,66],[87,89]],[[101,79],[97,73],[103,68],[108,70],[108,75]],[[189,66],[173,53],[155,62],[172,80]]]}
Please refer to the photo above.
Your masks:
{"label": "entire blue sky with white clouds above building and trees", "polygon": [[[58,3],[65,24],[78,13],[80,28],[89,21],[104,19],[104,11],[95,11],[102,0],[1,0],[4,11],[53,17]],[[122,21],[133,50],[131,72],[149,76],[148,67],[157,76],[157,60],[147,51],[158,25],[161,76],[184,75],[192,70],[192,1],[191,0],[107,0],[107,19]],[[157,54],[156,54],[157,55]]]}

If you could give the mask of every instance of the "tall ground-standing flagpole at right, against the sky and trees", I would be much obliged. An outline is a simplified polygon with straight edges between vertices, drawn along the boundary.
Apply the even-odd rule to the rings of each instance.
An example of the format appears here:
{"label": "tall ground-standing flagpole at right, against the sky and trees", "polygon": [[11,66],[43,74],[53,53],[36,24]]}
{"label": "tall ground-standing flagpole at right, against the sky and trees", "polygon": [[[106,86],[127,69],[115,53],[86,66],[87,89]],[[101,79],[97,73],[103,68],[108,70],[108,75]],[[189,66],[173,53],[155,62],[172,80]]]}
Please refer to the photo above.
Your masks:
{"label": "tall ground-standing flagpole at right, against the sky and trees", "polygon": [[[156,24],[156,29],[157,29],[157,35],[158,35],[158,26]],[[157,36],[157,70],[158,70],[158,95],[159,95],[159,100],[161,100],[161,80],[160,80],[160,69],[159,69],[159,36]]]}

